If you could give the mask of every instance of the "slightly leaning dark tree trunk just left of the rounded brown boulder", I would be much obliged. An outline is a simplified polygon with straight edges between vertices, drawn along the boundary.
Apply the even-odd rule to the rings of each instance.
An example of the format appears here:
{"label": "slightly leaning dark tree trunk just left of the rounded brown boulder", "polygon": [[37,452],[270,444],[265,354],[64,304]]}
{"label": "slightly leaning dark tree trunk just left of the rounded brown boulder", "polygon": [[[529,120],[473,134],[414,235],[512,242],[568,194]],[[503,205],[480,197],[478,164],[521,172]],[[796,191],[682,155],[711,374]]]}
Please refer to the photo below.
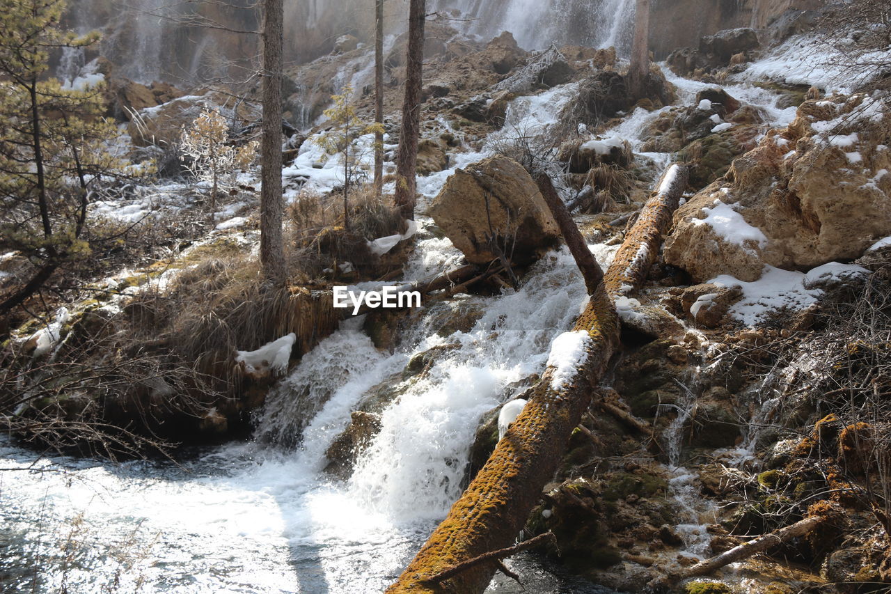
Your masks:
{"label": "slightly leaning dark tree trunk just left of the rounded brown boulder", "polygon": [[396,154],[396,206],[405,219],[414,219],[417,188],[415,168],[418,140],[421,136],[421,74],[424,65],[424,22],[426,0],[411,0],[408,11],[408,54],[405,59],[405,101],[402,104],[402,128]]}

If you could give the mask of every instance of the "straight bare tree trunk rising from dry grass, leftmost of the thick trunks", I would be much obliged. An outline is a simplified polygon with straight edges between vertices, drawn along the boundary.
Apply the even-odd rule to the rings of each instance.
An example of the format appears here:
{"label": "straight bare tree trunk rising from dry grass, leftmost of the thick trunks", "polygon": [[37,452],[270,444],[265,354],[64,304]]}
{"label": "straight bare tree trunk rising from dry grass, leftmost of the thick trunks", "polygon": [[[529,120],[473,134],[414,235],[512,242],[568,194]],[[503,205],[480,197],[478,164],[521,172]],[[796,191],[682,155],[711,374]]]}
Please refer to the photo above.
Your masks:
{"label": "straight bare tree trunk rising from dry grass, leftmost of the thick trunks", "polygon": [[263,276],[285,280],[282,239],[282,0],[264,0],[263,125],[260,148],[260,263]]}

